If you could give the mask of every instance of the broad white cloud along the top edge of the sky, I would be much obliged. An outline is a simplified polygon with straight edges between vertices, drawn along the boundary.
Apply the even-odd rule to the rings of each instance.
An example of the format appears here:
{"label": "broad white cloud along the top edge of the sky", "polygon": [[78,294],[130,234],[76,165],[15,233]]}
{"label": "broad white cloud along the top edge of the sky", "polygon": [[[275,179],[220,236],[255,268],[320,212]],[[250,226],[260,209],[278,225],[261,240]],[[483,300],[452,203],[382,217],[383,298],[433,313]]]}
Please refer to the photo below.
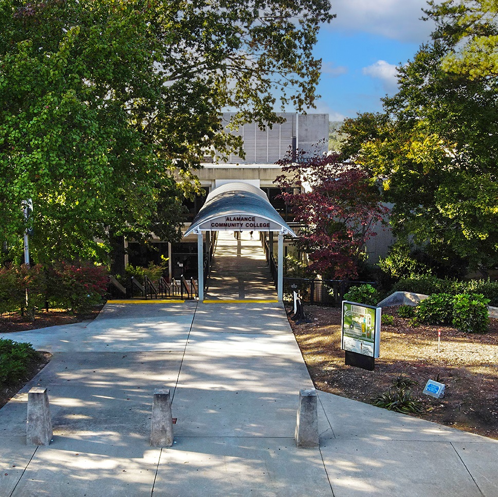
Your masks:
{"label": "broad white cloud along the top edge of the sky", "polygon": [[429,40],[431,21],[421,21],[426,0],[333,0],[329,29],[363,31],[418,44]]}

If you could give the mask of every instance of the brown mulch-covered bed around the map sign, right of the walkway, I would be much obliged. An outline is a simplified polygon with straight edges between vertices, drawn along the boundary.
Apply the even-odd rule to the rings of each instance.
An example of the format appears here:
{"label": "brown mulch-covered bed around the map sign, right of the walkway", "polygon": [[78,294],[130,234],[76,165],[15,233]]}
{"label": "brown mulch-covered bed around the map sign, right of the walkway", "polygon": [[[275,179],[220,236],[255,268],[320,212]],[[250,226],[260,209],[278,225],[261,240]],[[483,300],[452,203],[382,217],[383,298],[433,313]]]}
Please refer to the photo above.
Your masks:
{"label": "brown mulch-covered bed around the map sign, right of the walkway", "polygon": [[[344,364],[341,309],[309,306],[305,312],[309,323],[289,322],[317,389],[372,403],[402,374],[417,382],[412,398],[422,403],[423,413],[414,416],[498,439],[498,319],[491,319],[487,333],[473,334],[444,326],[413,328],[397,308],[384,308],[394,323],[382,325],[380,357],[367,371]],[[446,385],[444,397],[422,394],[429,379]]]}

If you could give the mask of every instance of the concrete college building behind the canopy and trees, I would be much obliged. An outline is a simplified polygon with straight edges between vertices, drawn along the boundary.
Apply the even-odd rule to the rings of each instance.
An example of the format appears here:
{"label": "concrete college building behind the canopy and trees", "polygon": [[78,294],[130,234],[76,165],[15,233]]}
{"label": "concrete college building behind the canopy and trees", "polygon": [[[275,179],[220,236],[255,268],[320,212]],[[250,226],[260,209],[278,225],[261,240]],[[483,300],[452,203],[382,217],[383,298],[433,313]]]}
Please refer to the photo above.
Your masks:
{"label": "concrete college building behind the canopy and trees", "polygon": [[[224,113],[222,116],[224,125],[228,125],[232,119],[232,113]],[[186,202],[189,209],[186,216],[183,234],[190,228],[192,221],[198,214],[201,207],[206,202],[206,197],[216,188],[229,183],[246,183],[252,187],[261,189],[267,196],[271,206],[280,214],[286,223],[292,226],[292,219],[286,209],[284,202],[279,198],[280,189],[276,188],[274,181],[282,173],[281,167],[277,164],[292,151],[299,150],[309,154],[328,152],[328,114],[294,114],[280,113],[284,118],[281,124],[274,124],[271,129],[266,127],[261,130],[257,123],[251,122],[241,126],[232,134],[241,136],[244,145],[245,157],[239,157],[234,153],[225,157],[226,162],[216,163],[211,157],[206,157],[206,162],[202,168],[195,171],[201,187],[205,190],[206,196],[197,197],[193,202]],[[255,229],[257,231],[257,229]],[[265,232],[267,233],[267,232]],[[276,253],[276,237],[268,232],[265,236],[270,239],[271,251],[273,244]],[[212,236],[208,232],[204,234],[203,258],[206,258],[212,243]],[[383,256],[387,247],[391,244],[390,235],[380,233],[374,237],[367,251],[371,257],[378,259]],[[125,241],[126,264],[134,266],[146,266],[150,261],[159,263],[161,256],[168,258],[169,277],[178,279],[184,276],[187,279],[198,277],[198,240],[194,234],[183,236],[177,243],[168,243],[159,239],[153,239],[148,245],[150,248],[140,245],[133,240]],[[151,246],[152,245],[152,246]],[[284,257],[292,245],[292,239],[284,240]]]}

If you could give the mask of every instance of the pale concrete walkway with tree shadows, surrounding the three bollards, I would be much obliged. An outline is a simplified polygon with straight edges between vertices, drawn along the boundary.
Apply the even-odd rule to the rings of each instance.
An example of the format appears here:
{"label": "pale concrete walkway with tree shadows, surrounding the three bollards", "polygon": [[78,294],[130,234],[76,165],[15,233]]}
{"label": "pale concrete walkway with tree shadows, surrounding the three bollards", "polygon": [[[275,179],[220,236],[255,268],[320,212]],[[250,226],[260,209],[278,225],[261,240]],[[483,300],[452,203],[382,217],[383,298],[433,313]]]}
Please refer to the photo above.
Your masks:
{"label": "pale concrete walkway with tree shadows, surrounding the three bollards", "polygon": [[[0,410],[0,495],[498,495],[498,442],[319,392],[319,449],[297,449],[312,388],[279,304],[106,305],[89,323],[9,333],[52,361]],[[26,446],[32,386],[48,447]],[[155,388],[175,443],[150,447]]]}

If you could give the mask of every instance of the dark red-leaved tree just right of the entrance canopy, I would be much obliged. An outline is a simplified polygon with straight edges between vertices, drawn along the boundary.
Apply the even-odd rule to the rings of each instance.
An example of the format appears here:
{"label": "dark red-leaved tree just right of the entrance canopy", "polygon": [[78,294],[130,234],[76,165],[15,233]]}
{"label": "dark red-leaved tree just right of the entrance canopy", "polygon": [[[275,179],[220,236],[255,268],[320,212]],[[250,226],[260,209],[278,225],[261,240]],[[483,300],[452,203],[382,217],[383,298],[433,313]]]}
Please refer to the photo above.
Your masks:
{"label": "dark red-leaved tree just right of the entrance canopy", "polygon": [[[297,247],[308,256],[309,271],[325,279],[354,278],[365,242],[388,209],[379,188],[353,163],[338,154],[287,156],[279,162],[275,183],[298,223]],[[294,189],[294,193],[289,193]]]}

